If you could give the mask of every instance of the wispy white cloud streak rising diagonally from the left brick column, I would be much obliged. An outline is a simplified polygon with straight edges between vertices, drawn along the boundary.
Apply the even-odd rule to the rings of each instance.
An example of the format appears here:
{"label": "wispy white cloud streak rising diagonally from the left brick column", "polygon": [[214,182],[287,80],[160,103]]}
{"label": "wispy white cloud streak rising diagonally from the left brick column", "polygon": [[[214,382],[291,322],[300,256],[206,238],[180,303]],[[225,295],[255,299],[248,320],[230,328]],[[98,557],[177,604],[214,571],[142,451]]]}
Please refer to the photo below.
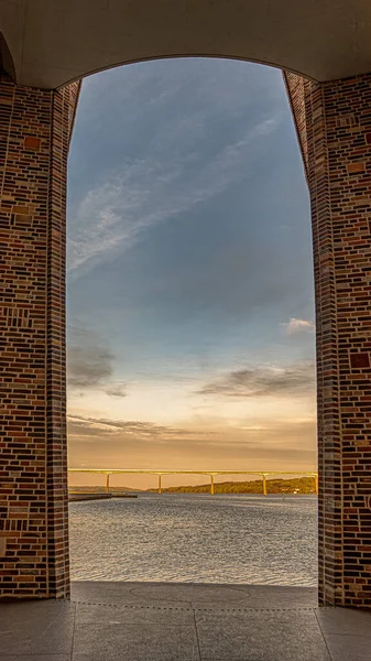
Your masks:
{"label": "wispy white cloud streak rising diagonally from the left brick column", "polygon": [[[199,121],[197,119],[197,121]],[[253,169],[261,139],[272,133],[280,117],[265,118],[244,128],[238,140],[225,144],[205,162],[196,151],[170,158],[155,148],[144,158],[124,162],[89,191],[75,209],[68,239],[68,271],[77,277],[112,251],[130,249],[155,225],[165,223],[195,205],[206,202],[249,175],[247,156]],[[189,132],[184,119],[173,129],[172,143],[184,142]],[[243,163],[243,167],[241,166]]]}

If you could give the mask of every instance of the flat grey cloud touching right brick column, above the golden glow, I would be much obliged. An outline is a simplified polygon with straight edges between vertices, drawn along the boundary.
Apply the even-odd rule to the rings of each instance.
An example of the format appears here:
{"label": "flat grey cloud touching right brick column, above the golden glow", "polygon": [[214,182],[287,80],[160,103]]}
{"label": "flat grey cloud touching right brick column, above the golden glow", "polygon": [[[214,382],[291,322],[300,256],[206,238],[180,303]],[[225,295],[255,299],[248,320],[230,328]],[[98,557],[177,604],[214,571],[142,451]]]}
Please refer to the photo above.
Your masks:
{"label": "flat grey cloud touching right brick column, above the golden glow", "polygon": [[299,397],[313,393],[315,369],[312,361],[291,366],[262,366],[231,371],[206,383],[199,394],[221,397]]}

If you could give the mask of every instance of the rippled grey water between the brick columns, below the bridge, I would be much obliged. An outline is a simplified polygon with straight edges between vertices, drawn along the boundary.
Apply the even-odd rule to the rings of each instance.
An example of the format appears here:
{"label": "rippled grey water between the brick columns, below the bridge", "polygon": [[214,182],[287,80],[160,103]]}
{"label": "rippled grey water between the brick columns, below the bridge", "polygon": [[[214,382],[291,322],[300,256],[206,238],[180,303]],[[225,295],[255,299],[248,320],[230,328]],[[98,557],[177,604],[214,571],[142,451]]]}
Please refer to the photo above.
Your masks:
{"label": "rippled grey water between the brick columns, below the bridge", "polygon": [[69,511],[75,581],[317,584],[313,496],[141,494]]}

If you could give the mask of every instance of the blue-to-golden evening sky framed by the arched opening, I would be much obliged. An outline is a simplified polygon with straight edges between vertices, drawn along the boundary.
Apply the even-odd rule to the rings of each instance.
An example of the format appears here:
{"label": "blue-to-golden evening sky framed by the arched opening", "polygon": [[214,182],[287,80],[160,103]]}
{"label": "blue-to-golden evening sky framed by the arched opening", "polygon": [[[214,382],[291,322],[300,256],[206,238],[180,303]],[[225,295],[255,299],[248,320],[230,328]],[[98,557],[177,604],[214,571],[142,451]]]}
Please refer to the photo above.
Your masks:
{"label": "blue-to-golden evening sky framed by the arched opening", "polygon": [[69,466],[314,470],[314,355],[282,73],[179,58],[86,78],[68,161]]}

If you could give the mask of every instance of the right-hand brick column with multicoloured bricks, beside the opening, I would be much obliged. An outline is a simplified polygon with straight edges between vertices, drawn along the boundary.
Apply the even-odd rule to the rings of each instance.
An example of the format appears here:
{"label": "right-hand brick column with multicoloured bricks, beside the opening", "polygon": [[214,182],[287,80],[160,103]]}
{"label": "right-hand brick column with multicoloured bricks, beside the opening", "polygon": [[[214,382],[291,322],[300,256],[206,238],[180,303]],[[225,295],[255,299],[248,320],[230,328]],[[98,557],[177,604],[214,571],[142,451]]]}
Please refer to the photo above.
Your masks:
{"label": "right-hand brick column with multicoloured bricks, beside the opening", "polygon": [[371,74],[286,74],[313,220],[319,598],[371,607]]}

